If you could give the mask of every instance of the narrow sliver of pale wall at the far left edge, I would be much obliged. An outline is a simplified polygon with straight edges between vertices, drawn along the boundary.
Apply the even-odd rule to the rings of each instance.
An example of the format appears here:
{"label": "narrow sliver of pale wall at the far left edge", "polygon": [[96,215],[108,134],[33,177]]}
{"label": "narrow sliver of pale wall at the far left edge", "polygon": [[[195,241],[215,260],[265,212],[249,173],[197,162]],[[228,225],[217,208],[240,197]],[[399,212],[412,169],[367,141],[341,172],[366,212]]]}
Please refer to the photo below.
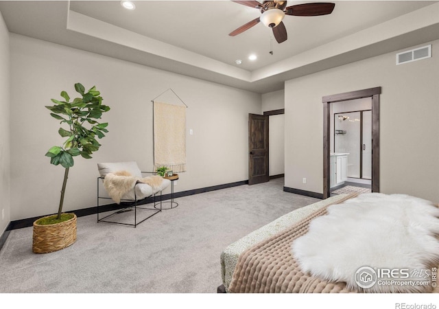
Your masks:
{"label": "narrow sliver of pale wall at the far left edge", "polygon": [[9,44],[8,28],[0,12],[0,235],[10,222]]}

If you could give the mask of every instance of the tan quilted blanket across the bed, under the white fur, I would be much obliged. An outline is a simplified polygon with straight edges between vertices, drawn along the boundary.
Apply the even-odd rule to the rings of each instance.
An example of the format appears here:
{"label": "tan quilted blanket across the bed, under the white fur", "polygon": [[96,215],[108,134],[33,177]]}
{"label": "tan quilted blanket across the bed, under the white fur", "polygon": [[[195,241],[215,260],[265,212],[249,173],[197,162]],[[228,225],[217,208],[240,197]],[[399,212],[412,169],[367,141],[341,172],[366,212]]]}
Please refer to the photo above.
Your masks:
{"label": "tan quilted blanket across the bed, under the white fur", "polygon": [[[346,196],[342,203],[357,194]],[[327,206],[329,207],[329,205]],[[263,240],[239,256],[230,293],[356,293],[344,282],[327,282],[300,271],[290,253],[294,239],[305,235],[313,218],[327,213],[327,207],[314,212],[296,225]]]}

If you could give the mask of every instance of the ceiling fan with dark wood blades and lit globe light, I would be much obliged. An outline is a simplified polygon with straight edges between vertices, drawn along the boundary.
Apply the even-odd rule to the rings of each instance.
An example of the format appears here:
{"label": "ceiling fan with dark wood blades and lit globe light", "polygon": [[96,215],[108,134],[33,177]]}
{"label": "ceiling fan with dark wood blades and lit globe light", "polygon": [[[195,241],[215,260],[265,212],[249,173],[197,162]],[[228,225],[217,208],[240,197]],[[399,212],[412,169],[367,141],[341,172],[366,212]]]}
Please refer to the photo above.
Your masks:
{"label": "ceiling fan with dark wood blades and lit globe light", "polygon": [[257,19],[249,21],[245,25],[237,28],[233,32],[228,34],[229,36],[236,36],[254,25],[257,25],[260,21],[267,27],[272,28],[274,38],[278,43],[287,41],[287,30],[282,20],[285,15],[294,16],[320,16],[331,14],[334,10],[335,3],[303,3],[297,5],[291,5],[287,7],[287,1],[233,1],[242,5],[250,6],[250,8],[257,8],[261,10],[262,15]]}

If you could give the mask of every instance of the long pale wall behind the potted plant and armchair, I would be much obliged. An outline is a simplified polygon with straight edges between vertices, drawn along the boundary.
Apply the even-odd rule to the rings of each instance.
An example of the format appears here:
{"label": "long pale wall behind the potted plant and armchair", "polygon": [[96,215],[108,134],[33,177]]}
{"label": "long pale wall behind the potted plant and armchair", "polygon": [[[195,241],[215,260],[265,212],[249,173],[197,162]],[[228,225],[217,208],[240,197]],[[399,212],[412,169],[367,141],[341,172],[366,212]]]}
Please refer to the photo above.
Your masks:
{"label": "long pale wall behind the potted plant and armchair", "polygon": [[[152,170],[151,100],[171,88],[187,108],[187,172],[176,192],[248,179],[248,113],[261,113],[261,95],[16,34],[11,39],[11,220],[54,213],[63,169],[45,152],[63,139],[44,107],[73,84],[95,85],[111,110],[93,159],[75,158],[64,211],[96,205],[96,163],[137,161]],[[182,104],[168,91],[161,101]],[[189,135],[189,128],[193,135]],[[169,190],[168,190],[169,191]],[[169,193],[169,192],[165,193]]]}

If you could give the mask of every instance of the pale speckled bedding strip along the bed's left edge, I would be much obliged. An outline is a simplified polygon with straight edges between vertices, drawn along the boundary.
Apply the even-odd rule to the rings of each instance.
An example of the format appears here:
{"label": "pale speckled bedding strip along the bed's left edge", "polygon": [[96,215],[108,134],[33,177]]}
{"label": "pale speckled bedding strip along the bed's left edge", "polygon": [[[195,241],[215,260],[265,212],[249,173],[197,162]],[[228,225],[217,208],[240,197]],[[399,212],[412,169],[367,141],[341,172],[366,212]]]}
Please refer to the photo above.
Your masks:
{"label": "pale speckled bedding strip along the bed's left edge", "polygon": [[349,194],[339,194],[337,196],[331,196],[325,200],[318,201],[317,203],[295,209],[294,211],[291,211],[288,214],[285,214],[284,216],[281,216],[280,218],[268,223],[268,225],[264,225],[263,227],[252,231],[252,233],[249,233],[248,235],[226,247],[226,249],[224,249],[220,255],[222,282],[226,288],[226,292],[228,292],[228,287],[232,282],[233,272],[235,271],[239,255],[246,251],[246,249],[252,247],[258,242],[276,235],[287,227],[291,227],[295,223],[309,216],[313,212],[322,209],[323,207],[343,201],[347,196],[349,196]]}

